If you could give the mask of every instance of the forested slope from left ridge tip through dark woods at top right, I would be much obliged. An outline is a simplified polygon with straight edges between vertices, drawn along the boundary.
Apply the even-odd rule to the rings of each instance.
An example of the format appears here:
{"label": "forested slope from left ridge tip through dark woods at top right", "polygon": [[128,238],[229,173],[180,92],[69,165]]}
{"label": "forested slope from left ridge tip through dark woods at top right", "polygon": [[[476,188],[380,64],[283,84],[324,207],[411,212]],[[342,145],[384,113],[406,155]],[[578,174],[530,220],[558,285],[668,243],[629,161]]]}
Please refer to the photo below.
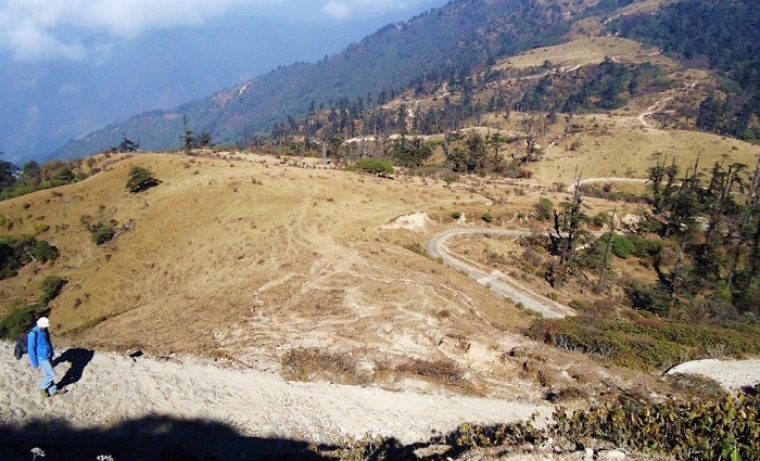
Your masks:
{"label": "forested slope from left ridge tip through dark woods at top right", "polygon": [[[653,0],[561,4],[457,0],[406,23],[390,24],[318,63],[282,66],[206,99],[92,132],[69,142],[58,156],[89,155],[117,145],[123,136],[147,150],[177,149],[183,116],[189,129],[208,133],[216,143],[250,144],[261,136],[277,136],[282,127],[295,131],[299,118],[324,108],[343,110],[347,101],[362,112],[382,106],[408,89],[467,87],[478,74],[487,84],[489,78],[503,78],[493,71],[499,60],[567,41],[573,34],[630,37],[660,47],[684,68],[717,72],[719,84],[691,107],[680,107],[680,115],[692,118],[698,129],[752,141],[760,137],[759,22],[760,5],[749,0],[684,0],[663,5]],[[586,30],[590,24],[601,26]],[[588,77],[583,81],[567,75],[561,84],[546,76],[532,88],[520,86],[517,95],[505,95],[502,100],[507,101],[497,103],[512,110],[605,111],[619,106],[624,92],[641,93],[642,82],[647,87],[668,84],[647,63],[631,68],[612,62],[605,65],[608,68],[596,79],[590,77],[594,69],[583,71],[581,78]]]}

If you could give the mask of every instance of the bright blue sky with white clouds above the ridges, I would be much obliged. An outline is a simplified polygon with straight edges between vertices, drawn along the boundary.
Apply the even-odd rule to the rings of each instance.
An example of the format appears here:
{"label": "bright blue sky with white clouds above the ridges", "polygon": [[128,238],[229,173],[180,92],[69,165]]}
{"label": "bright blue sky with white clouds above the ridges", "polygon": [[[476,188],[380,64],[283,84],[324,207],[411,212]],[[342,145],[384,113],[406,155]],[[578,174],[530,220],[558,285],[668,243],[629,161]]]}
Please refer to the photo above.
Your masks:
{"label": "bright blue sky with white clouds above the ridges", "polygon": [[431,0],[1,0],[0,50],[16,62],[102,59],[116,39],[203,27],[232,16],[339,23],[411,11]]}

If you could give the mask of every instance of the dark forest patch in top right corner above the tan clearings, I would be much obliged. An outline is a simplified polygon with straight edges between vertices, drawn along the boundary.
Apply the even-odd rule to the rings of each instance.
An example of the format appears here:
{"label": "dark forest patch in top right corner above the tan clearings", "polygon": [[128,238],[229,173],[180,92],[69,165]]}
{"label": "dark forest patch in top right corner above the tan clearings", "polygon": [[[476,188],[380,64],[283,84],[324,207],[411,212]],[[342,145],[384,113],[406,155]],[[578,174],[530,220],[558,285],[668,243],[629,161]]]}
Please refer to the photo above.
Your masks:
{"label": "dark forest patch in top right corner above the tan clearings", "polygon": [[760,2],[682,0],[659,14],[621,16],[609,29],[721,72],[723,84],[702,101],[697,126],[760,140],[751,124],[760,116]]}

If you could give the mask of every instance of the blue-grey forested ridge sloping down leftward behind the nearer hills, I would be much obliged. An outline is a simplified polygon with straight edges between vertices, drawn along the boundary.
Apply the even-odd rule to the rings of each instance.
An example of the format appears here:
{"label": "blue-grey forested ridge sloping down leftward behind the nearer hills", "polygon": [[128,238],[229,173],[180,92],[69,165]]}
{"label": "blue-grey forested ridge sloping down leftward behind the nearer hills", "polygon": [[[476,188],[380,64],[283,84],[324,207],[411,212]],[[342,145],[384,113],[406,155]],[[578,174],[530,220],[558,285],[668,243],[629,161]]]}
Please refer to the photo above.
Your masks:
{"label": "blue-grey forested ridge sloping down leftward behind the nearer hills", "polygon": [[[179,145],[182,115],[190,128],[235,143],[313,105],[409,86],[414,80],[467,75],[498,56],[559,41],[593,2],[560,7],[542,0],[456,0],[405,23],[388,25],[316,64],[281,66],[243,85],[170,111],[130,117],[69,142],[55,154],[74,158],[117,145],[126,133],[148,150]],[[617,2],[615,2],[617,5]]]}

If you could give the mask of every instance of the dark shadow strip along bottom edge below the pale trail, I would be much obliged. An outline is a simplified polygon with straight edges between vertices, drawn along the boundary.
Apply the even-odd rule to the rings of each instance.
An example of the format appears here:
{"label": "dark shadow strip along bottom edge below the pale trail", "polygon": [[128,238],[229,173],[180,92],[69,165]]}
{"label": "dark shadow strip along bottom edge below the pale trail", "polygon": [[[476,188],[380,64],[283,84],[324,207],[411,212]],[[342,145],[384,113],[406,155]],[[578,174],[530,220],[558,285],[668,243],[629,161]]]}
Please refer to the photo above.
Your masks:
{"label": "dark shadow strip along bottom edge below the pale trail", "polygon": [[[0,424],[0,434],[3,461],[29,461],[34,459],[33,448],[45,452],[45,461],[98,461],[100,456],[111,456],[114,461],[445,460],[463,452],[463,447],[444,445],[441,450],[441,445],[433,441],[404,446],[395,439],[357,445],[353,451],[345,451],[351,447],[250,437],[219,422],[169,417],[147,417],[109,428],[74,428],[65,421]],[[431,452],[433,446],[438,449]]]}

